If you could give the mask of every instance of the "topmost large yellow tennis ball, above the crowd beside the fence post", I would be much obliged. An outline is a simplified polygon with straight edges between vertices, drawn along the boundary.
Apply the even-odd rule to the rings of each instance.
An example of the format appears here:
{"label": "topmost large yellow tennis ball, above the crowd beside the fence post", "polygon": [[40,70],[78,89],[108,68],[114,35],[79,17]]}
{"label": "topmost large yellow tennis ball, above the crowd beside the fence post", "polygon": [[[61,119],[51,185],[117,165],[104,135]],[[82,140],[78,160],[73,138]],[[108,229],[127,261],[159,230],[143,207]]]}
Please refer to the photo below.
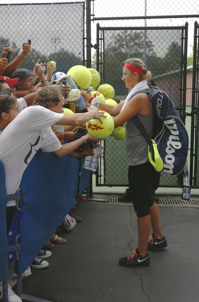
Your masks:
{"label": "topmost large yellow tennis ball, above the crowd beside the fence post", "polygon": [[92,75],[90,70],[85,66],[75,65],[68,70],[67,75],[69,74],[71,75],[78,89],[85,90],[88,86],[90,86]]}

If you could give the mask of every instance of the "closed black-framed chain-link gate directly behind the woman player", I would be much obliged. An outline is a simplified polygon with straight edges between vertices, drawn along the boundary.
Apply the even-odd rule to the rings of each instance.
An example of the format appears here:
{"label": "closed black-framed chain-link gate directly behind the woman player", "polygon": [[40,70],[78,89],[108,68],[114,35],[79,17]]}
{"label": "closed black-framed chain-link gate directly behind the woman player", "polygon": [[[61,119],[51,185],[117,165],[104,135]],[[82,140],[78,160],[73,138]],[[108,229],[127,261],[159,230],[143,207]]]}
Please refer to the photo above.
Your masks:
{"label": "closed black-framed chain-link gate directly behind the woman player", "polygon": [[[115,98],[125,100],[124,61],[139,57],[152,72],[152,85],[171,97],[185,123],[188,23],[177,27],[96,28],[96,68],[101,84],[111,84]],[[199,109],[199,107],[198,107]],[[108,137],[96,172],[96,186],[128,186],[128,166],[123,140]],[[182,187],[182,175],[161,175],[160,187]]]}

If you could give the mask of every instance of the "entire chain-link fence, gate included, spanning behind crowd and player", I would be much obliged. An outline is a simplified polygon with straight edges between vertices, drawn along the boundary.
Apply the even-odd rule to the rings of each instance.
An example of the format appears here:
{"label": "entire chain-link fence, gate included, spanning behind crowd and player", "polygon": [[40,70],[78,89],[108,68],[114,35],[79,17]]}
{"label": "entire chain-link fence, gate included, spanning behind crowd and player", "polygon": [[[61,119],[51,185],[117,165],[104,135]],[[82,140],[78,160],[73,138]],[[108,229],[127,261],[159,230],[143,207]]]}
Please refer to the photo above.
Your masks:
{"label": "entire chain-link fence, gate included, spanning behind crowd and player", "polygon": [[[88,10],[90,6],[91,11]],[[22,43],[31,38],[31,53],[20,67],[33,69],[32,60],[36,62],[40,58],[45,62],[56,61],[57,71],[67,72],[73,65],[86,64],[86,59],[89,58],[87,52],[85,59],[84,49],[88,50],[93,46],[89,42],[91,38],[92,43],[96,43],[100,48],[98,58],[93,49],[93,67],[96,67],[98,60],[102,83],[113,85],[117,98],[124,100],[128,93],[121,81],[124,60],[132,56],[140,57],[153,74],[152,85],[155,83],[170,95],[185,121],[186,51],[188,47],[190,52],[187,45],[193,44],[192,29],[195,18],[199,17],[197,11],[197,3],[194,0],[188,5],[185,1],[165,3],[163,0],[144,0],[139,2],[139,5],[130,0],[0,4],[0,51],[5,46],[11,46],[16,50],[12,55],[14,58],[21,51]],[[185,34],[187,25],[184,26],[186,21],[189,22],[190,31],[188,43],[187,33]],[[97,22],[99,26],[96,31]],[[97,42],[96,32],[99,35]],[[192,66],[192,57],[189,54],[188,65]],[[194,103],[194,107],[198,107],[198,104]],[[195,129],[197,124],[195,118],[192,127]],[[197,150],[198,131],[195,135]],[[97,184],[126,186],[128,179],[124,141],[109,137],[105,147]],[[195,171],[196,169],[195,160]],[[169,177],[164,174],[161,178],[162,186],[177,187],[179,183],[181,181],[177,176]],[[195,182],[197,183],[199,181]]]}

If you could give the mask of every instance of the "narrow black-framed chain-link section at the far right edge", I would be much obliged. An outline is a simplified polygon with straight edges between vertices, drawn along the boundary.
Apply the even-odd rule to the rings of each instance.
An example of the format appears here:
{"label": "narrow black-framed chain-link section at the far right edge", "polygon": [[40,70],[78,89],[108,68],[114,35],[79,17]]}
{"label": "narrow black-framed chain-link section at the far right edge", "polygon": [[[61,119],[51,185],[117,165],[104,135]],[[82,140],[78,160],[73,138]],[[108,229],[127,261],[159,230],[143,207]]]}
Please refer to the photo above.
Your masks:
{"label": "narrow black-framed chain-link section at the far right edge", "polygon": [[194,23],[193,37],[193,78],[191,102],[191,137],[190,137],[190,184],[199,188],[198,175],[198,131],[199,130],[199,25]]}

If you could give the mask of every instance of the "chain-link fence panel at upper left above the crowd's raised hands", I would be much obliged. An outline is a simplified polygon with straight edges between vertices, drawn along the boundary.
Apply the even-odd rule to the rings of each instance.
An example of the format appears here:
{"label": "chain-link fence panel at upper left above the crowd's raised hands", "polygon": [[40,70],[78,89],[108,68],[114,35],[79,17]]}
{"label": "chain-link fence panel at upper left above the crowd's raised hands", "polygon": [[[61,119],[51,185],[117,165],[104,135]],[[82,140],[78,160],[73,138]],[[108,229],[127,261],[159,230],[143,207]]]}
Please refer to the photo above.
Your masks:
{"label": "chain-link fence panel at upper left above the crowd's raised hands", "polygon": [[57,71],[67,72],[84,64],[84,13],[85,2],[0,5],[0,51],[13,47],[13,59],[31,39],[31,53],[20,68],[33,69],[32,60],[40,58],[55,61]]}

